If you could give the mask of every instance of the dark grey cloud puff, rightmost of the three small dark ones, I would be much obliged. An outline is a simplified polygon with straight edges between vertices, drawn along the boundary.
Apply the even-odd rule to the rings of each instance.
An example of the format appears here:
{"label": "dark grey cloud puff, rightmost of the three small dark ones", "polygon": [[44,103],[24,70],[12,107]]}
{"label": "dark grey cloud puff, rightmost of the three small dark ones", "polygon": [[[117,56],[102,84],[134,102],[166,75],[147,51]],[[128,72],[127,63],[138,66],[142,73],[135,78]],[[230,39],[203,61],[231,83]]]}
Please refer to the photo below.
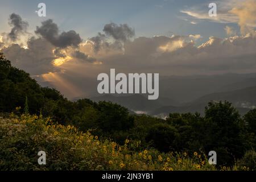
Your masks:
{"label": "dark grey cloud puff, rightmost of the three small dark ones", "polygon": [[126,40],[133,38],[135,35],[133,28],[127,24],[119,24],[118,26],[118,24],[109,23],[104,26],[103,31],[106,35],[112,36],[115,40],[121,40],[122,42],[126,42]]}

